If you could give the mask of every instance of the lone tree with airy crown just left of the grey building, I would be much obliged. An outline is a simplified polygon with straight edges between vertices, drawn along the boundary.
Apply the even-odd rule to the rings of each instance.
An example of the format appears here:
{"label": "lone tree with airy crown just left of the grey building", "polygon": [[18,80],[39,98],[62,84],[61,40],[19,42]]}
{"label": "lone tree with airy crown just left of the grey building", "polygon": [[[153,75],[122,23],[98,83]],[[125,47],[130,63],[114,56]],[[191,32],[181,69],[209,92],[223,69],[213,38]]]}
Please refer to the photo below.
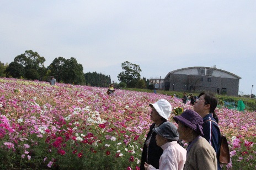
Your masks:
{"label": "lone tree with airy crown just left of the grey building", "polygon": [[118,80],[127,84],[127,87],[134,86],[140,80],[140,66],[127,61],[122,63],[121,66],[124,72],[119,73]]}

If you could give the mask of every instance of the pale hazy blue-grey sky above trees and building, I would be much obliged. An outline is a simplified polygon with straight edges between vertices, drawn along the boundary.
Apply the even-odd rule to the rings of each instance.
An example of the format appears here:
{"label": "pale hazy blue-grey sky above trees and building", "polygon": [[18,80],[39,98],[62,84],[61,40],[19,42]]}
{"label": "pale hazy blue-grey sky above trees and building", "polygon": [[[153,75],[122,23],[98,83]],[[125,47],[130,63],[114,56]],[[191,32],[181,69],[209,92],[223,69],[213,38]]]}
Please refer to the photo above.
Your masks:
{"label": "pale hazy blue-grey sky above trees and building", "polygon": [[114,82],[125,61],[146,79],[216,65],[242,78],[238,94],[256,94],[255,0],[1,0],[0,22],[2,63],[26,50],[44,57],[45,67],[74,57],[84,73]]}

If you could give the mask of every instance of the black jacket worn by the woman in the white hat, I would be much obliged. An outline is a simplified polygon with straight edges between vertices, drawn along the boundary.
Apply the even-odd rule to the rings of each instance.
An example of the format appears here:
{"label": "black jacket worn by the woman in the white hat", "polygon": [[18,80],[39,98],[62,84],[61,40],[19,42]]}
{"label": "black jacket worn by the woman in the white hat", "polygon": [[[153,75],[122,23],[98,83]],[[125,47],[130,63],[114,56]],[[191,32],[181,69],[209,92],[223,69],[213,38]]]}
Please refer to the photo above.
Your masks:
{"label": "black jacket worn by the woman in the white hat", "polygon": [[[166,121],[164,121],[166,122]],[[163,153],[163,149],[160,146],[157,146],[156,142],[156,133],[153,132],[155,123],[153,123],[150,126],[150,131],[147,134],[147,138],[150,138],[150,134],[152,133],[150,145],[148,146],[148,160],[147,160],[147,146],[146,146],[146,140],[144,142],[143,151],[141,155],[141,170],[144,170],[144,164],[147,162],[148,164],[151,164],[154,168],[159,168],[159,159]]]}

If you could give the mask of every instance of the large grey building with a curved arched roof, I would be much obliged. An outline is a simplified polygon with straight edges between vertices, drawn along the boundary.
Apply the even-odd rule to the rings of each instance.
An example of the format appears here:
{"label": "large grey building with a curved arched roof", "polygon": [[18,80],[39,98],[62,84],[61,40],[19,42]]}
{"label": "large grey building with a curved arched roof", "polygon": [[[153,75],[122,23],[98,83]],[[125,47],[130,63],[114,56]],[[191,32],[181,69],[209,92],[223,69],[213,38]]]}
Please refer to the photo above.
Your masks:
{"label": "large grey building with a curved arched roof", "polygon": [[210,91],[238,96],[241,77],[214,67],[188,67],[169,72],[164,89],[170,91]]}

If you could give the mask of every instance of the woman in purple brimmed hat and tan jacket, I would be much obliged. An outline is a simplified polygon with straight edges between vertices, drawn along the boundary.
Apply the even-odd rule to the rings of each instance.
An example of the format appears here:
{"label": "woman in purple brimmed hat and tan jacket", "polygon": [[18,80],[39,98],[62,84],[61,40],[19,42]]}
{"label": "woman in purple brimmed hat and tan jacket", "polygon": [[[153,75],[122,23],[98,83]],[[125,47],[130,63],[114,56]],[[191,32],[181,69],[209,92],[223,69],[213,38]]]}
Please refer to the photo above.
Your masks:
{"label": "woman in purple brimmed hat and tan jacket", "polygon": [[188,142],[184,170],[217,170],[215,150],[207,142],[202,132],[202,117],[193,110],[187,109],[179,116],[173,117],[178,123],[179,138]]}

